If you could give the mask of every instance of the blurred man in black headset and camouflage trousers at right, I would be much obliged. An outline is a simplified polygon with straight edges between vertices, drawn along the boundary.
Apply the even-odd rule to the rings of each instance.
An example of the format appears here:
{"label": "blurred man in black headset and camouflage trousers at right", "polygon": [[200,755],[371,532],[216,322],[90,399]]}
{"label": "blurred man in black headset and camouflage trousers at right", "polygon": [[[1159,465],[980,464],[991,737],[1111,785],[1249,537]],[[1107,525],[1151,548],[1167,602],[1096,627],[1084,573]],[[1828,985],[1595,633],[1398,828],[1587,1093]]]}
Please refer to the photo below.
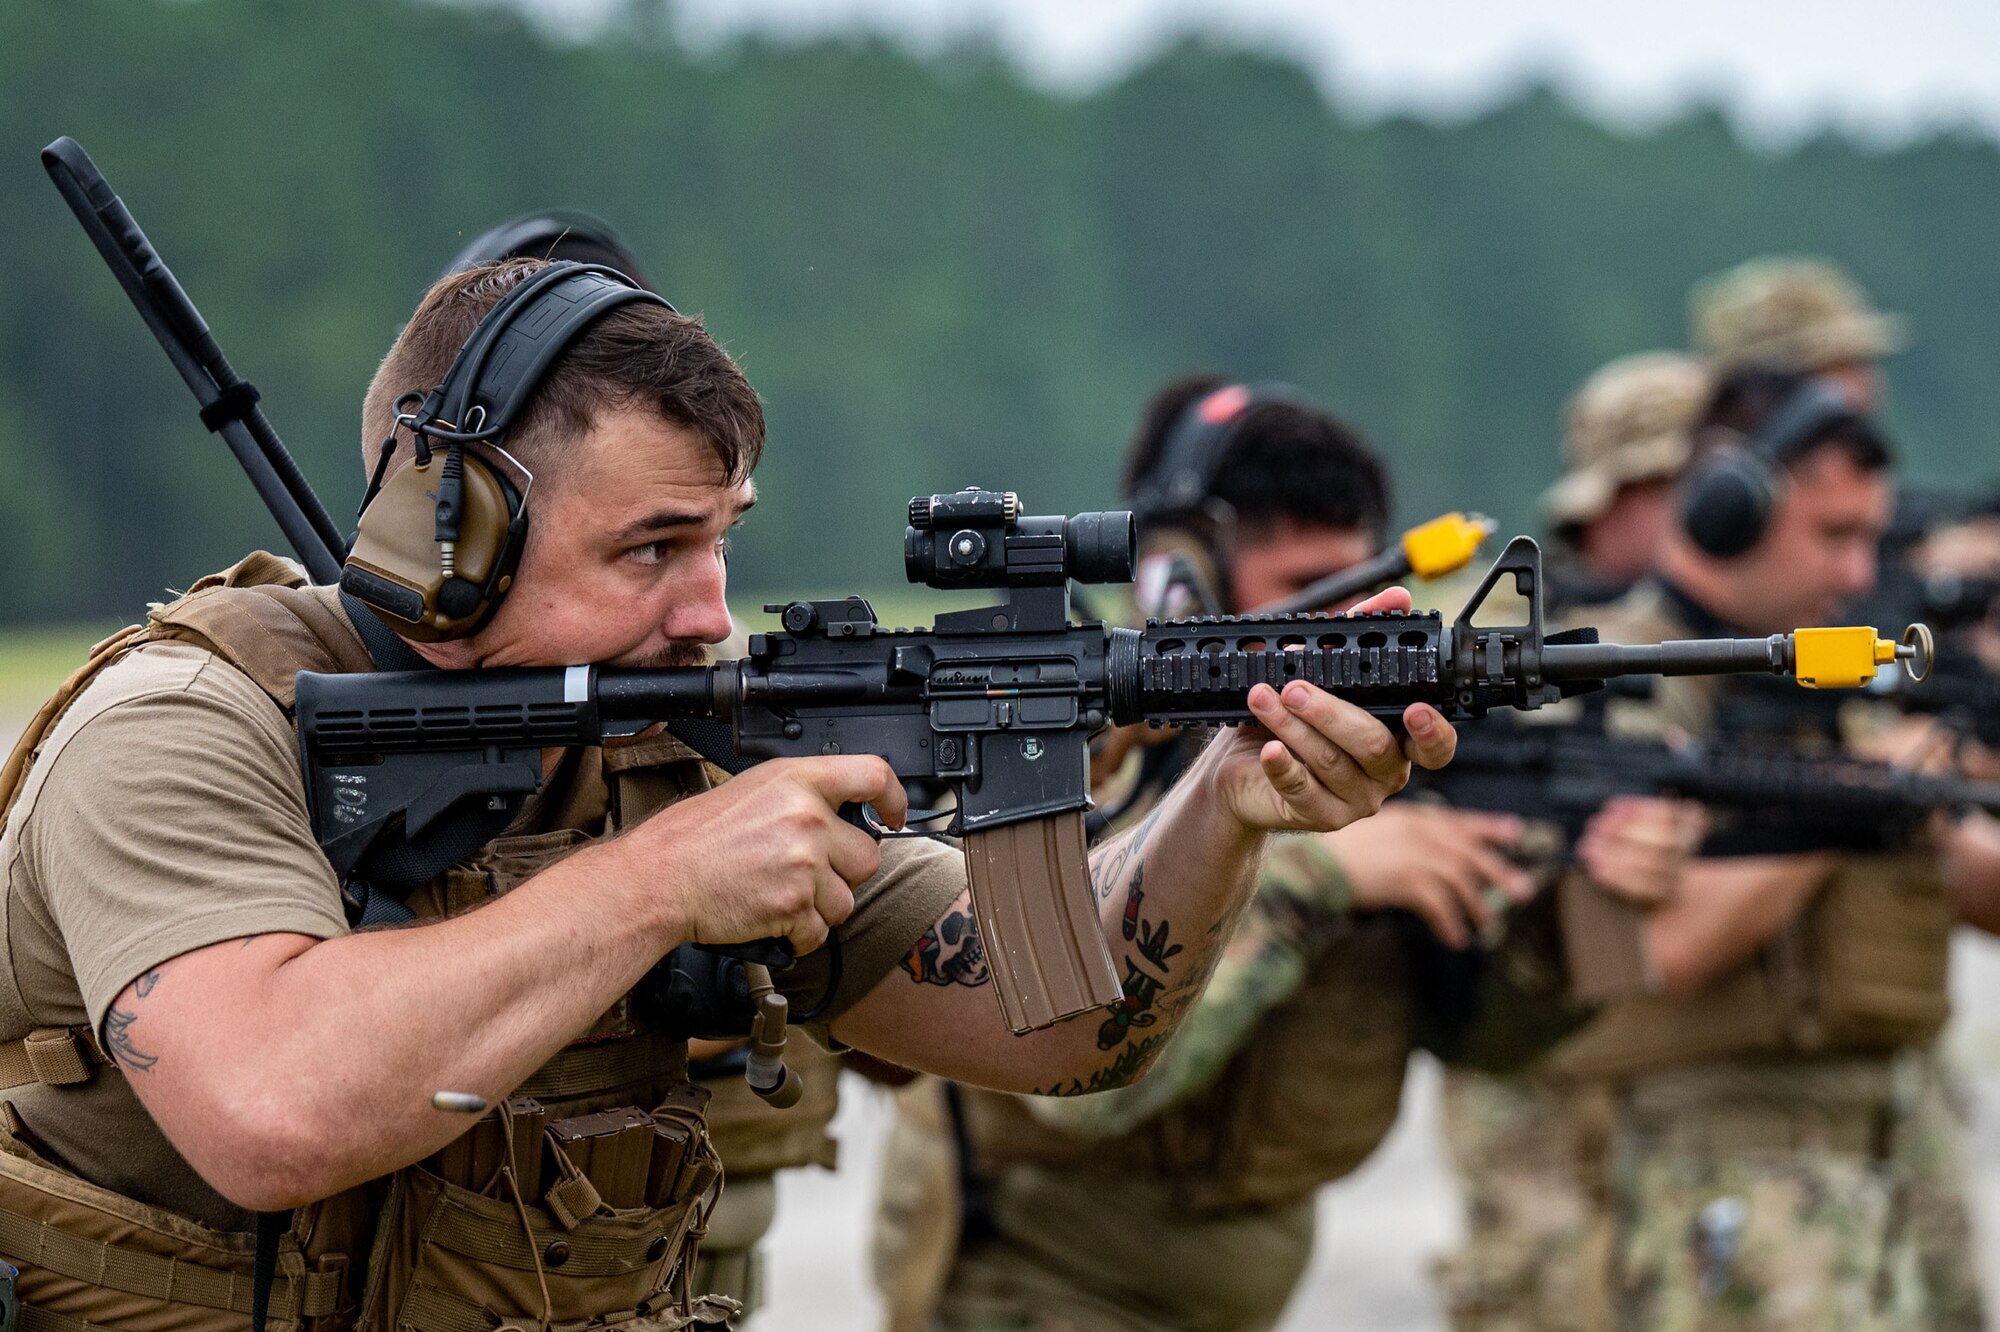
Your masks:
{"label": "blurred man in black headset and camouflage trousers at right", "polygon": [[[1684,528],[1658,578],[1598,616],[1608,634],[1822,624],[1874,582],[1892,488],[1866,416],[1810,376],[1738,372],[1710,426],[1710,450],[1768,462],[1774,500],[1732,534],[1702,512],[1724,464],[1698,456]],[[1754,688],[1666,680],[1648,702],[1612,698],[1608,726],[1740,744],[1730,718],[1750,714],[1732,704]],[[1658,992],[1548,1062],[1612,1106],[1616,1326],[1982,1326],[1930,1046],[1954,908],[1986,918],[2000,874],[1964,872],[1952,834],[1776,820],[1724,828],[1702,856],[1644,924]]]}

